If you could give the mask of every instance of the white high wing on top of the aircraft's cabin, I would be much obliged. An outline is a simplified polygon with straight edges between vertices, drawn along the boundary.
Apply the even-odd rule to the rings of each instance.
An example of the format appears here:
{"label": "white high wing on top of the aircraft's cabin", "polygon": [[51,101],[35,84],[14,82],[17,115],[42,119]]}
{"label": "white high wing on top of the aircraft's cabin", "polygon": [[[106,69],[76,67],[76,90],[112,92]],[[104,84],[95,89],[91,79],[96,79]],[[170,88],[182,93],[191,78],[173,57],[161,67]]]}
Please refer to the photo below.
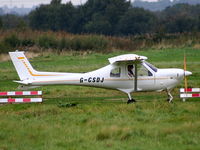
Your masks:
{"label": "white high wing on top of the aircraft's cabin", "polygon": [[122,62],[141,62],[142,60],[146,60],[147,57],[145,56],[139,56],[135,54],[125,54],[125,55],[119,55],[116,57],[108,58],[109,62],[111,64],[114,63],[122,63]]}

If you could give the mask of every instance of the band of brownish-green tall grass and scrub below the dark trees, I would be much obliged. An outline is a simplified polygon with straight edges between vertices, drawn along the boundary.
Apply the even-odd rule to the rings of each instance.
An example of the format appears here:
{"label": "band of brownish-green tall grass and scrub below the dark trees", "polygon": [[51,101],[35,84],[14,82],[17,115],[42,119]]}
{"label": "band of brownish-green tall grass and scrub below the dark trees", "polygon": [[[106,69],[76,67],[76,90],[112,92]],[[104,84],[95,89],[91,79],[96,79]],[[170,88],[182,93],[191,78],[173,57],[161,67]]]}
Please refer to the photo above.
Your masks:
{"label": "band of brownish-green tall grass and scrub below the dark trees", "polygon": [[0,31],[0,53],[14,49],[32,51],[101,51],[141,50],[147,48],[199,48],[200,33],[154,34],[129,37],[74,35],[66,32],[17,30]]}

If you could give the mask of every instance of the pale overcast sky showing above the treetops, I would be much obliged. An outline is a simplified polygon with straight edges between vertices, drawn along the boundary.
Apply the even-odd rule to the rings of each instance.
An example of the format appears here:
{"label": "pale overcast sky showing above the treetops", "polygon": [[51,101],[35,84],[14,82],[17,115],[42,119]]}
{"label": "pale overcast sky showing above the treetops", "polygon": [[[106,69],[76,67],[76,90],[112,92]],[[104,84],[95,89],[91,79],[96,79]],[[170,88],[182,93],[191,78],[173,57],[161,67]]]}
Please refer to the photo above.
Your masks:
{"label": "pale overcast sky showing above the treetops", "polygon": [[[84,4],[87,0],[62,0],[63,3],[71,1],[74,5]],[[131,0],[134,1],[134,0]],[[143,0],[154,2],[157,0]],[[32,7],[39,4],[49,4],[51,0],[0,0],[0,7],[7,5],[8,7]]]}

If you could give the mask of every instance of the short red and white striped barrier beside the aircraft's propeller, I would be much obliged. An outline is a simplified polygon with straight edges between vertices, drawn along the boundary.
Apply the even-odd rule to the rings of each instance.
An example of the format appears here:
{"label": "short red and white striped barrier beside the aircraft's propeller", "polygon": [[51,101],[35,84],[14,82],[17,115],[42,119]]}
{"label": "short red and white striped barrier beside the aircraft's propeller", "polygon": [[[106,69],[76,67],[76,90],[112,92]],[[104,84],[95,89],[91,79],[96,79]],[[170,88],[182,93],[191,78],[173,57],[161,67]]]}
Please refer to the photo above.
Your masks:
{"label": "short red and white striped barrier beside the aircraft's propeller", "polygon": [[185,101],[186,98],[200,97],[200,93],[195,93],[195,92],[200,92],[200,88],[188,88],[188,89],[181,88],[180,98],[182,98],[183,101]]}

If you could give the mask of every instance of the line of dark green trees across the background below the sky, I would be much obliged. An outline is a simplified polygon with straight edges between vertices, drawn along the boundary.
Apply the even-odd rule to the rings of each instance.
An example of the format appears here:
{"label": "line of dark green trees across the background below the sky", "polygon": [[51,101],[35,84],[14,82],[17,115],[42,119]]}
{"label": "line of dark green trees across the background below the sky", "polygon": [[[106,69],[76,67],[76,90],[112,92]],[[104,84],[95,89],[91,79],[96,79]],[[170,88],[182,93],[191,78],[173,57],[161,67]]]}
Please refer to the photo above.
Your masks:
{"label": "line of dark green trees across the background below the sky", "polygon": [[1,16],[0,28],[111,36],[199,32],[200,5],[176,4],[151,12],[127,0],[88,0],[80,6],[52,0],[23,17]]}

